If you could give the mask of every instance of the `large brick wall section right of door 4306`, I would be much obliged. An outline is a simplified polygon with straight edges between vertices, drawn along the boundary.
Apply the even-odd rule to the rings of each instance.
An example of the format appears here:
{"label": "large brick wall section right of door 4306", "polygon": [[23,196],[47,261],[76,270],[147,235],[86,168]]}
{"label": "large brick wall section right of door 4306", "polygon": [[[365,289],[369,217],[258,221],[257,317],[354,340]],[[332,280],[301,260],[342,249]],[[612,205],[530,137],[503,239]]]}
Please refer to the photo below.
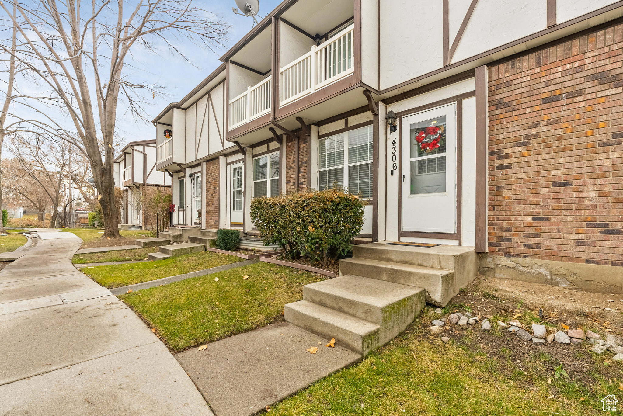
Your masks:
{"label": "large brick wall section right of door 4306", "polygon": [[489,250],[623,266],[623,26],[489,69]]}

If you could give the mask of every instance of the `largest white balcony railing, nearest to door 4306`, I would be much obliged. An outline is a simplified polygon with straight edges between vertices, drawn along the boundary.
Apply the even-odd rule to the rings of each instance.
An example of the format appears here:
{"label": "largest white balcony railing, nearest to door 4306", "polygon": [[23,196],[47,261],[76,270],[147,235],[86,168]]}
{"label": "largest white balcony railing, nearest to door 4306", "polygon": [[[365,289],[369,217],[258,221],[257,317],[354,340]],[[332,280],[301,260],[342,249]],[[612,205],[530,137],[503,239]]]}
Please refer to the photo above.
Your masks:
{"label": "largest white balcony railing, nearest to door 4306", "polygon": [[354,24],[279,71],[280,105],[326,87],[353,73]]}

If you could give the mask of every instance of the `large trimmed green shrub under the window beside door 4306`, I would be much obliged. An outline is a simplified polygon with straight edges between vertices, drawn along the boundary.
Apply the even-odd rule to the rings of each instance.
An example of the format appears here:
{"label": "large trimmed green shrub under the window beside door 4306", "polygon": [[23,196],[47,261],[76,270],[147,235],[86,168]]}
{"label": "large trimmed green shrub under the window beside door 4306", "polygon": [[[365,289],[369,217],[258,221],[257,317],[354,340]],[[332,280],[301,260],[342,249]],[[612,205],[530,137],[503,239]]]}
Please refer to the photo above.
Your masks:
{"label": "large trimmed green shrub under the window beside door 4306", "polygon": [[290,258],[326,263],[350,250],[363,227],[363,204],[340,189],[258,197],[251,200],[251,220],[266,245],[280,245]]}

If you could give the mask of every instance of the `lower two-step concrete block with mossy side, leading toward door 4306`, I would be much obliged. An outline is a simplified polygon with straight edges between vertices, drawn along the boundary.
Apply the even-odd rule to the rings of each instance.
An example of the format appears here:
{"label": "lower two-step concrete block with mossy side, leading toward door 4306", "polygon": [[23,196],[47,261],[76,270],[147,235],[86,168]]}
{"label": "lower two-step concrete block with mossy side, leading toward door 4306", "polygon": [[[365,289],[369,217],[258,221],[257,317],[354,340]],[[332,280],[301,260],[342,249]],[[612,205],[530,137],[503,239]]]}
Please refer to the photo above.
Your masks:
{"label": "lower two-step concrete block with mossy side, leading toward door 4306", "polygon": [[303,286],[303,300],[285,305],[285,320],[360,354],[405,328],[424,307],[424,289],[360,276]]}

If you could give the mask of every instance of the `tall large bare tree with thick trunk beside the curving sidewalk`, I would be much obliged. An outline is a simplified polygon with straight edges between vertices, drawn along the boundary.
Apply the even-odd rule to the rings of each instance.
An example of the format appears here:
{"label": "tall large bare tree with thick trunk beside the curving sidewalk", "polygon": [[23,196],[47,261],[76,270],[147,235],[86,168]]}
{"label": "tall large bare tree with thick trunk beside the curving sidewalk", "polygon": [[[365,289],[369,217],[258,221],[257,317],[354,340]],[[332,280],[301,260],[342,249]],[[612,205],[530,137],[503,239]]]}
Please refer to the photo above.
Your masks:
{"label": "tall large bare tree with thick trunk beside the curving sidewalk", "polygon": [[[161,42],[190,62],[176,46],[179,41],[212,49],[223,44],[229,28],[221,17],[194,6],[193,0],[135,0],[129,12],[126,4],[124,0],[0,1],[26,44],[14,53],[15,59],[47,85],[72,126],[44,111],[39,111],[38,120],[29,121],[50,136],[64,137],[87,156],[102,206],[103,237],[110,238],[120,237],[113,179],[120,99],[126,111],[144,120],[145,98],[162,92],[158,85],[135,82],[125,74],[131,67],[131,50],[141,47],[155,52],[155,42]],[[17,8],[16,16],[8,5]],[[82,14],[85,9],[87,16]]]}

